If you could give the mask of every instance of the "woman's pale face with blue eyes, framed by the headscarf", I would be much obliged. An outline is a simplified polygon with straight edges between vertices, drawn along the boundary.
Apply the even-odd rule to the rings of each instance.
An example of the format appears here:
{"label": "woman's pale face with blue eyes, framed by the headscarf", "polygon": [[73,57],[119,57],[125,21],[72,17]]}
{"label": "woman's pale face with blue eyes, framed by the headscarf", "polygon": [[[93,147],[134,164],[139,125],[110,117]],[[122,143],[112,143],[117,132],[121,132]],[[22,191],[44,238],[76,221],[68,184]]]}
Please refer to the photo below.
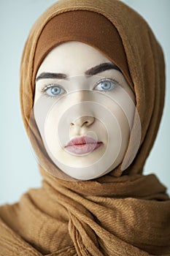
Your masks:
{"label": "woman's pale face with blue eyes, framed by the headscarf", "polygon": [[123,74],[82,42],[58,45],[36,74],[34,116],[47,154],[78,180],[103,176],[123,161],[134,104]]}

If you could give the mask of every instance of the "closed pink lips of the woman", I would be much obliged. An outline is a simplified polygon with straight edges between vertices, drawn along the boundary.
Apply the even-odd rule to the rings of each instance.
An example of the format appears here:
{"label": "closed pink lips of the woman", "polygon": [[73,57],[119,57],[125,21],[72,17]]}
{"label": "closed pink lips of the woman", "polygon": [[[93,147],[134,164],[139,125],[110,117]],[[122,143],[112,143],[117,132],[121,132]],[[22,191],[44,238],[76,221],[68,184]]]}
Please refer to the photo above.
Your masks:
{"label": "closed pink lips of the woman", "polygon": [[87,154],[96,150],[102,144],[102,142],[98,142],[93,138],[83,135],[70,140],[64,148],[74,154]]}

